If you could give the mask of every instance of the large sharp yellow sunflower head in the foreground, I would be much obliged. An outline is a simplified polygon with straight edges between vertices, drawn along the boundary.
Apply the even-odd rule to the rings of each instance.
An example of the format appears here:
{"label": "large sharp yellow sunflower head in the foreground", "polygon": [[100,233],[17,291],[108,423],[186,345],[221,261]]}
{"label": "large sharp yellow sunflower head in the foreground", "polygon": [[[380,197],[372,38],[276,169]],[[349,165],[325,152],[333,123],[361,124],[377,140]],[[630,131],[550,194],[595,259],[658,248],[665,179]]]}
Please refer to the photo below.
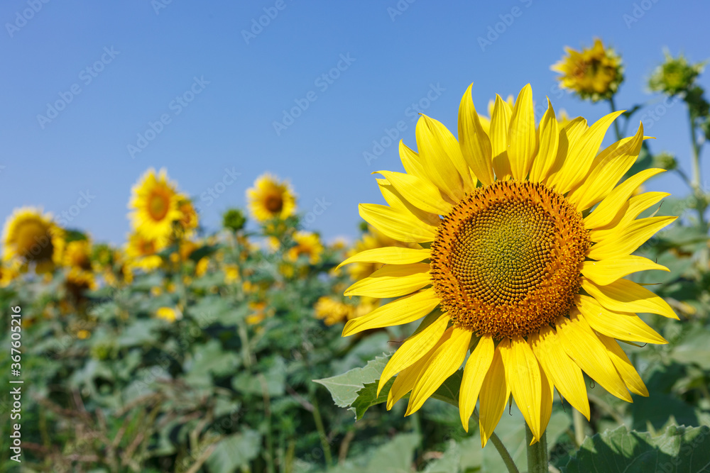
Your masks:
{"label": "large sharp yellow sunflower head in the foreground", "polygon": [[398,374],[388,408],[411,393],[406,414],[417,411],[469,350],[459,411],[468,430],[480,401],[483,445],[511,393],[534,441],[550,419],[553,388],[589,419],[583,371],[620,399],[631,401],[629,390],[648,396],[616,339],[666,343],[635,313],[677,316],[624,277],[667,271],[631,253],[675,217],[637,219],[670,195],[632,196],[662,169],[616,185],[638,157],[643,124],[597,154],[620,114],[589,127],[576,118],[559,128],[548,101],[536,129],[528,84],[512,109],[498,97],[488,134],[469,87],[458,140],[422,116],[419,152],[400,143],[406,173],[378,172],[389,205],[359,210],[390,238],[420,247],[366,250],[344,261],[385,265],[346,296],[399,299],[349,321],[343,335],[425,317],[383,370],[378,390]]}

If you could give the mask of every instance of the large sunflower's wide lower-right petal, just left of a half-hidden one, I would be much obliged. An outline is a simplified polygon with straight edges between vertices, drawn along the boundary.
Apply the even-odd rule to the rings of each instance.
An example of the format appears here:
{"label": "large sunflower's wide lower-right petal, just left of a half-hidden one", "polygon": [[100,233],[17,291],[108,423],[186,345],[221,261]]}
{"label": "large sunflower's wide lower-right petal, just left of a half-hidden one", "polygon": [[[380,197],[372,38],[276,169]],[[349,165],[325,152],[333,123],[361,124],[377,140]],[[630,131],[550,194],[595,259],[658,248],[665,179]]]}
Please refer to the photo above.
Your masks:
{"label": "large sunflower's wide lower-right petal, just left of a half-hidden one", "polygon": [[598,382],[610,394],[631,402],[631,396],[626,390],[626,384],[616,372],[616,367],[607,355],[606,347],[599,337],[591,330],[584,318],[574,309],[569,318],[557,319],[557,335],[572,360],[577,363],[591,379]]}

